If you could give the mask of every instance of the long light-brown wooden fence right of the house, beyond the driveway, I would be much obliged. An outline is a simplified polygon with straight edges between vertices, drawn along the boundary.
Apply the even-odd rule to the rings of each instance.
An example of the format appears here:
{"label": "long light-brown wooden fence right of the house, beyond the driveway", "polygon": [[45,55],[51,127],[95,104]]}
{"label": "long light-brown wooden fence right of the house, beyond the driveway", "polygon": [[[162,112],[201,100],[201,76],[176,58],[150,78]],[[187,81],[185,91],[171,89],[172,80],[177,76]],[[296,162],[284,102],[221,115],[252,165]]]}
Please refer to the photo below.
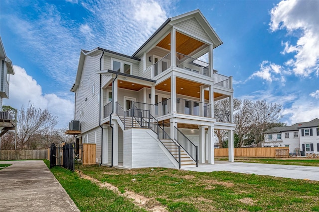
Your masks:
{"label": "long light-brown wooden fence right of the house, beyond the driveway", "polygon": [[[215,148],[216,157],[228,157],[228,148]],[[289,147],[234,148],[235,157],[289,157]]]}

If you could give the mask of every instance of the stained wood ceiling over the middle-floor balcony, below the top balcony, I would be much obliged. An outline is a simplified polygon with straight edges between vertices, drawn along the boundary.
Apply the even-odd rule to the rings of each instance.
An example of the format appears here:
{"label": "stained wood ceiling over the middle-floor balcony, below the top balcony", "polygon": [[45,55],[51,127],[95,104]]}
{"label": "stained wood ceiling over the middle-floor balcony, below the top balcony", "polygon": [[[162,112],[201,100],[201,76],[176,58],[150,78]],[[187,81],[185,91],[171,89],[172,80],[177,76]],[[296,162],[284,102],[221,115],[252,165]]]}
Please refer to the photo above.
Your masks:
{"label": "stained wood ceiling over the middle-floor balcony, below the top balcony", "polygon": [[[199,98],[200,85],[203,85],[203,84],[176,77],[176,93],[177,94]],[[170,92],[170,78],[161,82],[155,88],[157,90]],[[214,92],[214,98],[217,98],[219,96],[222,96],[222,94]],[[208,90],[205,90],[205,99],[206,100],[209,99]]]}

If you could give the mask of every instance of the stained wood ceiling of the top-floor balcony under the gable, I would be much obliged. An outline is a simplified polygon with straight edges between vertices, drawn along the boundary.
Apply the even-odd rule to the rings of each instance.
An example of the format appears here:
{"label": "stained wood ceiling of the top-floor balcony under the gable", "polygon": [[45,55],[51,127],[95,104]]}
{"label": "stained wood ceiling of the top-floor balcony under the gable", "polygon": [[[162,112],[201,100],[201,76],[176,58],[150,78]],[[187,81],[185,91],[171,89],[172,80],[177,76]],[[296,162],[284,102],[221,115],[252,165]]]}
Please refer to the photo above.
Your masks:
{"label": "stained wood ceiling of the top-floor balcony under the gable", "polygon": [[[188,55],[199,47],[204,45],[203,42],[188,37],[182,33],[176,32],[176,52]],[[170,51],[170,33],[157,44],[157,46]]]}

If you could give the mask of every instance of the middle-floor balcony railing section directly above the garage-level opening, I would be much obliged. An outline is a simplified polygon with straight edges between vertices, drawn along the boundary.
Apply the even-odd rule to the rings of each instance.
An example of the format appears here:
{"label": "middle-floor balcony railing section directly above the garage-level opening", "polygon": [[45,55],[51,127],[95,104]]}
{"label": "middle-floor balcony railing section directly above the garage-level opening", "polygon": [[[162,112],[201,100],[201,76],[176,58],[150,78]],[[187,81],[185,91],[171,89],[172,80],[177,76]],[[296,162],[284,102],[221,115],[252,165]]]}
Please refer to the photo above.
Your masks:
{"label": "middle-floor balcony railing section directly above the garage-level opening", "polygon": [[210,104],[176,98],[176,112],[180,114],[210,117]]}

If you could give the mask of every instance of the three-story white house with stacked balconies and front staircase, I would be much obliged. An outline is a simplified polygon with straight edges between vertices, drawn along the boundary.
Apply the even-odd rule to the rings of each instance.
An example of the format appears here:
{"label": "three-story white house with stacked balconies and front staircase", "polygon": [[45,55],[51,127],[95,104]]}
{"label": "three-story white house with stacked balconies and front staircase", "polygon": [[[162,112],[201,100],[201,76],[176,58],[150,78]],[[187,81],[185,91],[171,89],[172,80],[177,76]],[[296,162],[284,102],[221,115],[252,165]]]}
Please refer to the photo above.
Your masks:
{"label": "three-story white house with stacked balconies and front staircase", "polygon": [[[233,154],[232,77],[213,70],[222,44],[199,10],[167,19],[132,55],[82,50],[67,134],[96,143],[96,162],[127,168],[214,164],[214,129]],[[198,60],[203,55],[208,62]],[[214,101],[228,98],[226,111]]]}

